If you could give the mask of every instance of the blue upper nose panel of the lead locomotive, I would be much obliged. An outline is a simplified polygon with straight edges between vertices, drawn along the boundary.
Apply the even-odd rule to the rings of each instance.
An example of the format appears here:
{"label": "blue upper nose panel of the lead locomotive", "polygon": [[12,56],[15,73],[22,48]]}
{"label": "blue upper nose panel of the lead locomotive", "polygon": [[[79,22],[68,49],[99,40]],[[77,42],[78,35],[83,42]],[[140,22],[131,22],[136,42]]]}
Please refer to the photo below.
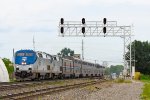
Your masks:
{"label": "blue upper nose panel of the lead locomotive", "polygon": [[19,50],[15,53],[15,64],[22,65],[22,63],[26,63],[26,65],[34,64],[37,60],[37,55],[33,50]]}

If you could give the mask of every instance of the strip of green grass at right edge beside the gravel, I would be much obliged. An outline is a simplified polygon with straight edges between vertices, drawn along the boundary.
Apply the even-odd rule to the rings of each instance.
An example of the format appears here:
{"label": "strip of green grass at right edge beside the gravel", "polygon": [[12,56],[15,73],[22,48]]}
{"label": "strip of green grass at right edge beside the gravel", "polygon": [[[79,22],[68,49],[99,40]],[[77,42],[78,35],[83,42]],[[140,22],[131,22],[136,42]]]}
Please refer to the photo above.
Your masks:
{"label": "strip of green grass at right edge beside the gravel", "polygon": [[141,75],[141,81],[144,82],[142,100],[150,100],[150,75]]}

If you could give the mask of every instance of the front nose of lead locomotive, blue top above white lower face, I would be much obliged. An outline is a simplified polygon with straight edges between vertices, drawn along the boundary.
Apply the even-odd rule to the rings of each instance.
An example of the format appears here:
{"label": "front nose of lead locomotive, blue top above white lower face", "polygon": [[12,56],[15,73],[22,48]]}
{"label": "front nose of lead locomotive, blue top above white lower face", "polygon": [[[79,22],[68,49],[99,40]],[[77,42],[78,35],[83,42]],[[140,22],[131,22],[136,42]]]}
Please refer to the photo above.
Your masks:
{"label": "front nose of lead locomotive, blue top above white lower face", "polygon": [[32,65],[37,56],[33,50],[20,50],[15,53],[15,75],[21,78],[32,76]]}

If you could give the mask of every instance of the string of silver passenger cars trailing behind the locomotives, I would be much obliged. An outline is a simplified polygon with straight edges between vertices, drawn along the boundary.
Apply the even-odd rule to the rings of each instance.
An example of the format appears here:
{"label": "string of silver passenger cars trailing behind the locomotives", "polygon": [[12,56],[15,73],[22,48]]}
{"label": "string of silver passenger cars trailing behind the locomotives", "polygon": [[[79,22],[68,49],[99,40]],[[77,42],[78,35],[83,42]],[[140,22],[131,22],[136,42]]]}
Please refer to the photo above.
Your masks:
{"label": "string of silver passenger cars trailing behind the locomotives", "polygon": [[62,58],[62,73],[65,77],[102,77],[105,68],[99,64],[74,57]]}

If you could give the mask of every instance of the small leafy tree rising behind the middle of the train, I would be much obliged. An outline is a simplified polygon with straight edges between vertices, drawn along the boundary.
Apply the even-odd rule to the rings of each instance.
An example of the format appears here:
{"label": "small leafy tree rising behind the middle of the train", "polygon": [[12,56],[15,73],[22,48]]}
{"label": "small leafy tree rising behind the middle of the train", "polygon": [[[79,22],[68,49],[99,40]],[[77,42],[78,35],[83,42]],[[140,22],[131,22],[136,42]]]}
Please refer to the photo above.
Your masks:
{"label": "small leafy tree rising behind the middle of the train", "polygon": [[71,50],[70,48],[64,48],[60,51],[60,53],[58,53],[58,55],[62,55],[62,57],[65,56],[73,56],[74,55],[74,51]]}

